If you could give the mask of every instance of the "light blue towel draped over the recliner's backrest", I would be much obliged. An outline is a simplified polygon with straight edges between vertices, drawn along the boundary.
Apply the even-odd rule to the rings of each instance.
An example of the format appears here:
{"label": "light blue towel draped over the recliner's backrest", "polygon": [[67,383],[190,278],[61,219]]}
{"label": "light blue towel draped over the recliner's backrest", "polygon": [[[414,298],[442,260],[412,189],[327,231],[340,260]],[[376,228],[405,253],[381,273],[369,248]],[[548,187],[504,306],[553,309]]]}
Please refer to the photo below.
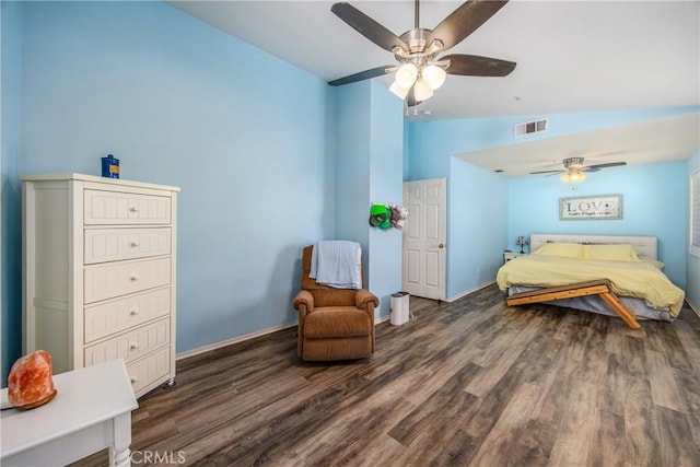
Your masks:
{"label": "light blue towel draped over the recliner's backrest", "polygon": [[336,289],[362,289],[362,247],[357,242],[322,241],[311,255],[310,278]]}

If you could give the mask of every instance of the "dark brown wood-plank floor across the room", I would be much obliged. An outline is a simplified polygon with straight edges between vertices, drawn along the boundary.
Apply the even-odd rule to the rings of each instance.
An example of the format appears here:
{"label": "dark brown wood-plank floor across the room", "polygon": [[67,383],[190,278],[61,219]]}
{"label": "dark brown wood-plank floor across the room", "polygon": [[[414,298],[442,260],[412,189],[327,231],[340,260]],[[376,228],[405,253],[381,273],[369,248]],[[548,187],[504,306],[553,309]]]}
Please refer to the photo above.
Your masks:
{"label": "dark brown wood-plank floor across the room", "polygon": [[291,328],[178,361],[177,386],[132,413],[133,464],[700,466],[690,308],[631,330],[509,308],[495,285],[410,307],[366,360],[301,362]]}

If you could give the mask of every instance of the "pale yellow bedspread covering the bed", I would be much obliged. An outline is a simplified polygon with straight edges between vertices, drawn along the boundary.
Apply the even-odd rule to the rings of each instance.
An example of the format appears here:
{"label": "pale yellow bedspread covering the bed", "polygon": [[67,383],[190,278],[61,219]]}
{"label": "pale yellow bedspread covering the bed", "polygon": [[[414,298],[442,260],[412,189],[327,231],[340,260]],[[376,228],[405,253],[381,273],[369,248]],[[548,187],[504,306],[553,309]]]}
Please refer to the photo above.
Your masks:
{"label": "pale yellow bedspread covering the bed", "polygon": [[642,299],[654,307],[668,310],[673,317],[682,307],[684,291],[670,282],[656,261],[526,255],[508,261],[497,275],[502,291],[511,285],[557,287],[596,279],[608,279],[616,294]]}

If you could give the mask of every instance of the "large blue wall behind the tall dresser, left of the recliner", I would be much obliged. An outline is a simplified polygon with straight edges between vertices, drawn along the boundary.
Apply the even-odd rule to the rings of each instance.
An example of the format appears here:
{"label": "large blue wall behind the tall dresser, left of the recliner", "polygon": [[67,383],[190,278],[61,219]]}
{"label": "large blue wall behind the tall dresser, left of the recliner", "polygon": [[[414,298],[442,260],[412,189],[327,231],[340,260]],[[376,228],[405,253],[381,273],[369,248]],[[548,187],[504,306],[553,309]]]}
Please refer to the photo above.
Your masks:
{"label": "large blue wall behind the tall dresser, left of the recliner", "polygon": [[182,187],[178,352],[294,323],[301,248],[334,236],[330,87],[165,3],[23,7],[19,173],[114,153]]}

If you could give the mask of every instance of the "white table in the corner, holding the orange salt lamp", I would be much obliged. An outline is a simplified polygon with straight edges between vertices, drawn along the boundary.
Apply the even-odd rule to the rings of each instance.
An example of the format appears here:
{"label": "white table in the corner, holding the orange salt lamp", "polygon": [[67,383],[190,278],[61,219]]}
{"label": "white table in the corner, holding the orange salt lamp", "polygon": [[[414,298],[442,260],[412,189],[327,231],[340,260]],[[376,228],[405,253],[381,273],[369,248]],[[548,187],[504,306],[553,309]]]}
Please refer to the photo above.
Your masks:
{"label": "white table in the corner, holding the orange salt lamp", "polygon": [[[109,464],[131,465],[131,410],[139,407],[122,360],[54,376],[58,394],[32,410],[0,416],[0,464],[66,465],[109,447]],[[8,389],[0,397],[3,406]]]}

